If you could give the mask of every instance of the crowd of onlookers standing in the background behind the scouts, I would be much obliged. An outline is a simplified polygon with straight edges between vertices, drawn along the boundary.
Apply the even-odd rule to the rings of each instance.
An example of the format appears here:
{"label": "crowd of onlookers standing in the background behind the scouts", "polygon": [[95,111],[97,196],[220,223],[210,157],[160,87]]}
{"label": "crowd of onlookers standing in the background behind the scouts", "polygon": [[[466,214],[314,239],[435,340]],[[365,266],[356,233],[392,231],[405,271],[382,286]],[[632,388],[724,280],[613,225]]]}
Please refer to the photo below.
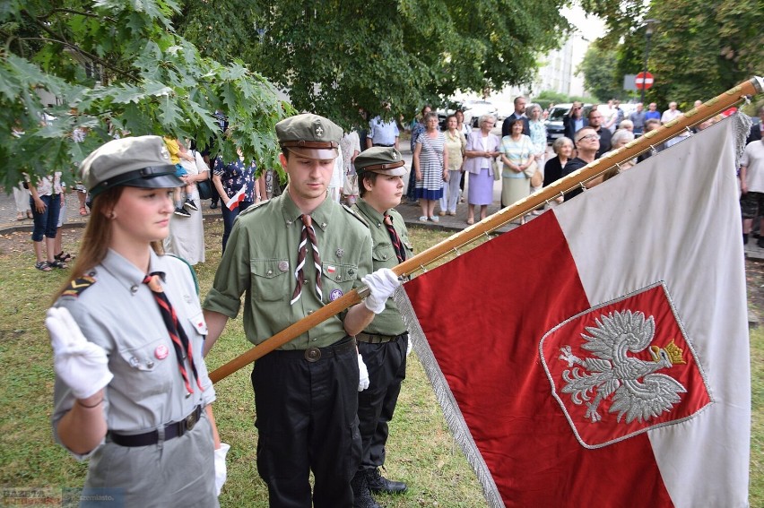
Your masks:
{"label": "crowd of onlookers standing in the background behind the scouts", "polygon": [[[430,106],[421,108],[421,114],[405,129],[411,134],[412,151],[412,168],[407,178],[405,202],[419,206],[421,222],[437,223],[439,218],[445,215],[456,216],[457,205],[460,202],[467,203],[463,212],[466,224],[474,223],[476,207],[482,220],[487,214],[488,206],[494,202],[491,181],[494,178],[500,181],[499,204],[503,207],[569,174],[570,171],[558,168],[560,159],[556,159],[549,168],[552,177],[547,176],[549,161],[546,159],[548,147],[544,118],[553,104],[543,109],[538,104],[526,106],[526,103],[524,97],[514,100],[514,111],[500,126],[501,135],[493,134],[498,138],[497,147],[493,146],[496,140],[485,131],[485,126],[490,124],[489,132],[496,132],[495,117],[479,118],[478,128],[473,129],[464,122],[464,111],[457,109],[454,114],[447,116],[441,130],[438,116]],[[698,105],[699,101],[696,101],[695,106]],[[401,131],[404,128],[389,117],[389,108],[388,104],[382,106],[387,119],[376,115],[370,118],[368,125],[343,133],[329,184],[329,194],[334,201],[351,206],[358,200],[359,179],[354,162],[362,151],[371,147],[398,149]],[[363,113],[369,117],[366,111]],[[638,103],[629,115],[624,113],[620,101],[614,99],[601,106],[585,107],[581,102],[573,102],[569,111],[562,117],[565,139],[561,144],[554,146],[561,148],[572,145],[573,157],[568,159],[576,159],[579,151],[575,141],[578,139],[577,133],[584,127],[591,127],[598,136],[598,148],[595,152],[595,159],[598,159],[634,137],[671,122],[680,115],[682,112],[675,101],[670,102],[663,113],[658,111],[655,102],[650,103],[647,109]],[[221,131],[225,132],[227,120],[224,114],[217,111],[215,116]],[[698,125],[695,130],[707,128],[717,119],[709,119]],[[520,127],[514,126],[517,122],[521,124]],[[81,141],[79,138],[84,134],[82,129],[78,129],[73,134],[78,138],[75,141]],[[653,146],[637,159],[621,165],[620,168],[587,185],[601,183],[614,176],[614,172],[628,169],[638,161],[681,142],[688,135],[689,133],[682,133],[664,144]],[[233,222],[239,213],[247,210],[252,204],[281,194],[281,185],[278,178],[274,178],[273,169],[266,168],[256,177],[256,162],[245,161],[240,153],[239,159],[223,160],[220,154],[211,158],[209,150],[195,149],[194,140],[179,140],[171,134],[165,135],[163,139],[171,163],[177,168],[176,176],[186,184],[175,191],[174,214],[178,216],[178,220],[172,222],[164,246],[167,252],[182,257],[192,265],[204,263],[206,245],[201,210],[203,201],[210,199],[210,209],[220,206],[224,226],[221,250],[224,251]],[[486,150],[481,150],[482,145],[486,145]],[[555,149],[554,146],[550,156],[559,156],[559,148]],[[485,153],[491,155],[486,156]],[[482,169],[486,170],[484,174]],[[468,192],[464,194],[467,182]],[[80,215],[90,215],[87,189],[81,182],[74,182],[69,188],[76,191]],[[58,177],[50,175],[41,179],[33,188],[30,188],[29,182],[20,183],[13,188],[17,220],[34,220],[35,230],[32,237],[35,267],[40,271],[66,268],[67,263],[73,259],[72,254],[65,253],[61,247],[60,231],[57,229],[57,226],[65,221],[66,208],[63,205],[66,189],[66,185],[60,182],[60,174]],[[37,197],[34,197],[34,194],[37,194]],[[48,202],[55,201],[52,200],[53,196],[57,196],[57,201],[51,206]],[[44,203],[45,206],[40,203]],[[55,205],[58,205],[58,211]],[[520,219],[521,223],[524,221],[525,219]],[[52,238],[49,247],[48,240],[44,238]]]}

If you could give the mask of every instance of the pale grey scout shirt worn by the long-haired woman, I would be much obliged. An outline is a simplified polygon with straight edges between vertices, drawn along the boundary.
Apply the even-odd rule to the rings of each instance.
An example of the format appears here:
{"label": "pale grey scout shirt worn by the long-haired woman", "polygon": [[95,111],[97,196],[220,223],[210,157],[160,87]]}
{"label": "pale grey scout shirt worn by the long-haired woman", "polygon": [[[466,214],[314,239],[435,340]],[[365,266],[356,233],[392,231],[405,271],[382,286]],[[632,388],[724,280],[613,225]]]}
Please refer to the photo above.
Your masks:
{"label": "pale grey scout shirt worn by the long-haired woman", "polygon": [[[85,338],[105,349],[109,356],[109,371],[114,379],[104,392],[103,408],[109,430],[122,434],[139,434],[179,421],[198,404],[215,400],[213,383],[202,357],[207,325],[191,272],[186,263],[153,251],[149,266],[150,272],[165,274],[162,288],[191,340],[204,391],[196,385],[186,360],[194,389],[187,397],[159,306],[151,290],[143,284],[145,274],[121,255],[109,250],[91,271],[95,279],[91,287],[78,296],[62,296],[56,301],[56,306],[69,309]],[[74,405],[74,395],[57,378],[54,403],[55,433],[58,420]]]}

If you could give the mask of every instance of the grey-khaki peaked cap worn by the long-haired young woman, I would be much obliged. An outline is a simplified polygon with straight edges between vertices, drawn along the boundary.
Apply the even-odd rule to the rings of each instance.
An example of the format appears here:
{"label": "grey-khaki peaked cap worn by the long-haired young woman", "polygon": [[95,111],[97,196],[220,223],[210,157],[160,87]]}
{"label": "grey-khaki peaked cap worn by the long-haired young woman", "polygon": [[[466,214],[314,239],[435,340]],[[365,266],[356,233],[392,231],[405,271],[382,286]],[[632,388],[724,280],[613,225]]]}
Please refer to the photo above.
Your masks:
{"label": "grey-khaki peaked cap worn by the long-haired young woman", "polygon": [[80,171],[92,196],[117,185],[150,189],[185,185],[175,176],[175,165],[160,136],[110,141],[82,160]]}

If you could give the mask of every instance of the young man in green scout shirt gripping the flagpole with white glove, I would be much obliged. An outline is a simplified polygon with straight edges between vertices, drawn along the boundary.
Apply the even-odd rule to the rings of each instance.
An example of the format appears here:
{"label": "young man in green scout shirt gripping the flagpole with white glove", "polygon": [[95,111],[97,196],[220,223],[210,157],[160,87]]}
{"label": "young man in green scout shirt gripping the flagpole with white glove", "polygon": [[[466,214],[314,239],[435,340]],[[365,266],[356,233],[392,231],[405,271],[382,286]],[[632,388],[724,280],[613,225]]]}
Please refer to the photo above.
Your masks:
{"label": "young man in green scout shirt gripping the flagpole with white glove", "polygon": [[398,281],[390,270],[371,273],[369,229],[326,198],[342,129],[304,114],[276,124],[276,134],[289,185],[234,223],[204,301],[204,351],[239,314],[243,294],[244,331],[259,344],[353,288],[369,287],[363,302],[258,359],[252,370],[257,470],[270,505],[350,507],[360,461],[357,390],[368,386],[352,336],[385,309]]}

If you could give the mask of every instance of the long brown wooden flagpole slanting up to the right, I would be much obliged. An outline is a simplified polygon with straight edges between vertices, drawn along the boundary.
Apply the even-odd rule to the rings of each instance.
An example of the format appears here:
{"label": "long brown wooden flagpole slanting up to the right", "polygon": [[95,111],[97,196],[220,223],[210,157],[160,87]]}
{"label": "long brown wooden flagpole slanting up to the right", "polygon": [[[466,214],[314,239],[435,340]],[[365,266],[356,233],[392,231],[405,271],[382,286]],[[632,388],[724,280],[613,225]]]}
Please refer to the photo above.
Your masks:
{"label": "long brown wooden flagpole slanting up to the right", "polygon": [[[756,95],[764,90],[764,80],[756,76],[746,82],[742,82],[730,90],[716,96],[701,104],[698,108],[690,109],[687,113],[673,119],[664,125],[661,125],[654,131],[640,136],[626,146],[611,151],[601,159],[590,162],[584,168],[571,173],[567,177],[560,178],[553,184],[544,187],[537,193],[503,208],[490,217],[473,224],[469,228],[456,233],[456,235],[447,238],[438,245],[433,245],[426,251],[416,254],[403,263],[398,264],[392,270],[399,277],[411,275],[420,271],[423,267],[438,261],[438,259],[458,252],[460,247],[472,243],[474,240],[488,235],[491,231],[498,229],[511,220],[523,217],[530,211],[535,210],[546,202],[564,195],[578,186],[584,186],[587,182],[602,175],[610,168],[616,167],[629,159],[634,159],[640,153],[650,150],[654,145],[665,142],[674,136],[684,133],[693,125],[698,125],[713,116],[720,114],[728,108],[732,108],[746,99],[746,96]],[[325,322],[334,314],[339,314],[346,308],[354,306],[360,302],[363,297],[369,295],[369,288],[353,289],[351,292],[337,298],[333,302],[321,307],[313,314],[306,316],[297,323],[292,323],[287,328],[279,331],[273,337],[261,342],[256,347],[230,360],[227,364],[218,367],[210,374],[213,383],[233,374],[243,366],[254,362],[259,357],[264,357],[273,349],[280,348],[287,342],[294,340],[301,334],[310,330],[319,323]]]}

